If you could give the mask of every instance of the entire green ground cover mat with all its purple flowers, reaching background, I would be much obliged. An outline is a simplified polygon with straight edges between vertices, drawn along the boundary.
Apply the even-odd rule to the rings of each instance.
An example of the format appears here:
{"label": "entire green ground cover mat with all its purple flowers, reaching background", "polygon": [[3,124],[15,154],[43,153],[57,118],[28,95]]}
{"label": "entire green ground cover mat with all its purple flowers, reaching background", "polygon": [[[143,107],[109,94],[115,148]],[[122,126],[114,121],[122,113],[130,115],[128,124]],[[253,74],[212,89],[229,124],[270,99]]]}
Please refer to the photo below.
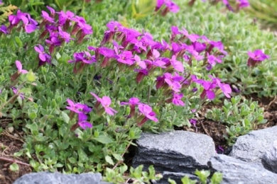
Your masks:
{"label": "entire green ground cover mat with all its purple flowers, reaching background", "polygon": [[[25,156],[33,171],[158,180],[153,168],[146,174],[124,163],[142,131],[197,130],[211,100],[276,96],[273,33],[220,4],[148,2],[72,1],[69,7],[83,8],[71,11],[53,2],[16,4],[21,9],[1,25],[1,135],[16,132],[23,149],[14,156]],[[266,122],[257,103],[231,101],[255,116],[233,111],[241,131],[232,128],[228,100],[223,113],[212,111],[215,119],[207,113],[227,122],[229,144]]]}

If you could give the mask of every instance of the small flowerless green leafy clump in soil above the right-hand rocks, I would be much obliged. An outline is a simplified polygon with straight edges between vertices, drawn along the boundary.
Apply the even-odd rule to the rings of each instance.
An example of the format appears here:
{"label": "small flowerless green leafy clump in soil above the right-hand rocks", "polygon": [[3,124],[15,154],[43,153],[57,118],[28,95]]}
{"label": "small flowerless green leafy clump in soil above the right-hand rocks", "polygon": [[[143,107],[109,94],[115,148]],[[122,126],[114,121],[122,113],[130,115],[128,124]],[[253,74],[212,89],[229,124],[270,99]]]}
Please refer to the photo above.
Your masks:
{"label": "small flowerless green leafy clump in soil above the right-hand rocks", "polygon": [[257,125],[267,122],[264,119],[264,109],[257,101],[242,100],[240,96],[224,100],[222,108],[212,108],[205,115],[208,119],[227,125],[228,136],[225,138],[229,145],[234,144],[237,137],[256,130]]}

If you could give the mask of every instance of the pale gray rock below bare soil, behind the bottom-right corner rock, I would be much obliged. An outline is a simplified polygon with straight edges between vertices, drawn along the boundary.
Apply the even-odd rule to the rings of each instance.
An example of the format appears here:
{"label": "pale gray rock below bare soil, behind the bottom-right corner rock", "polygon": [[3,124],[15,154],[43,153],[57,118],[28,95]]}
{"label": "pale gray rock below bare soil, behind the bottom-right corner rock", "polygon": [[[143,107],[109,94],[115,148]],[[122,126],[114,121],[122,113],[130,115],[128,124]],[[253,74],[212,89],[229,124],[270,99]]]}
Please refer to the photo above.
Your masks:
{"label": "pale gray rock below bare soil, behind the bottom-right corner rock", "polygon": [[261,164],[264,153],[277,139],[277,126],[251,131],[237,139],[229,156],[251,163]]}

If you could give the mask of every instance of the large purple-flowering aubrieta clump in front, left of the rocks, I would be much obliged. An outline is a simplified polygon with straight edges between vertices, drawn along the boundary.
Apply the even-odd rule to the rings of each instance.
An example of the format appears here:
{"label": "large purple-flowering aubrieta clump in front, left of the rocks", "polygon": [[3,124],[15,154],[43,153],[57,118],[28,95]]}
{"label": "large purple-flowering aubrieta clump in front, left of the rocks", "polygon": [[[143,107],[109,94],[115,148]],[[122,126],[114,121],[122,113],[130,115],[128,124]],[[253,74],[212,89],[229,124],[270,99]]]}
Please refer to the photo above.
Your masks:
{"label": "large purple-flowering aubrieta clump in front, left of the rocks", "polygon": [[1,117],[26,132],[17,155],[36,171],[120,172],[141,130],[190,126],[219,89],[230,97],[229,84],[205,74],[227,54],[220,41],[172,26],[159,42],[117,21],[94,40],[84,18],[47,8],[41,21],[18,10],[1,30],[18,50],[1,57],[11,77],[1,79]]}

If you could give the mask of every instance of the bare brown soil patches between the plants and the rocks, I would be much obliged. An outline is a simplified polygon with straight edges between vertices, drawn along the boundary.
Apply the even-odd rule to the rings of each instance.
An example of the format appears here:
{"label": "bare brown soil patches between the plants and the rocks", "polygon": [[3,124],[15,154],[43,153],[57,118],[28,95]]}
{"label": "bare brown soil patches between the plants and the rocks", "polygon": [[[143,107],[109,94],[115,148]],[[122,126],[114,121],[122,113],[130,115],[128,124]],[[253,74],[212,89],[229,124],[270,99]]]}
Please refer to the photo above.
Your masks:
{"label": "bare brown soil patches between the plants and the rocks", "polygon": [[[277,125],[277,96],[275,98],[257,98],[251,96],[253,100],[258,100],[259,105],[264,107],[264,118],[268,122],[264,125],[259,125],[259,129],[266,127],[273,127]],[[195,127],[183,127],[181,130],[197,132],[201,134],[207,134],[214,140],[217,152],[219,154],[227,154],[229,148],[227,146],[224,134],[227,134],[225,125],[219,122],[213,122],[212,120],[205,119],[204,115],[207,109],[220,107],[220,105],[214,105],[212,103],[205,106],[204,110],[198,113],[198,121]],[[26,173],[31,173],[32,168],[28,165],[28,159],[24,156],[15,157],[13,154],[20,151],[23,146],[23,132],[15,130],[11,133],[6,131],[7,121],[0,118],[0,127],[3,128],[3,132],[0,134],[0,183],[9,184],[13,183],[17,178],[23,176]],[[180,128],[179,128],[180,130]],[[130,149],[132,149],[130,147]],[[130,150],[130,152],[133,152]],[[130,154],[129,154],[130,156]],[[128,163],[131,162],[129,157]],[[19,170],[11,171],[9,166],[12,163],[18,163]]]}

